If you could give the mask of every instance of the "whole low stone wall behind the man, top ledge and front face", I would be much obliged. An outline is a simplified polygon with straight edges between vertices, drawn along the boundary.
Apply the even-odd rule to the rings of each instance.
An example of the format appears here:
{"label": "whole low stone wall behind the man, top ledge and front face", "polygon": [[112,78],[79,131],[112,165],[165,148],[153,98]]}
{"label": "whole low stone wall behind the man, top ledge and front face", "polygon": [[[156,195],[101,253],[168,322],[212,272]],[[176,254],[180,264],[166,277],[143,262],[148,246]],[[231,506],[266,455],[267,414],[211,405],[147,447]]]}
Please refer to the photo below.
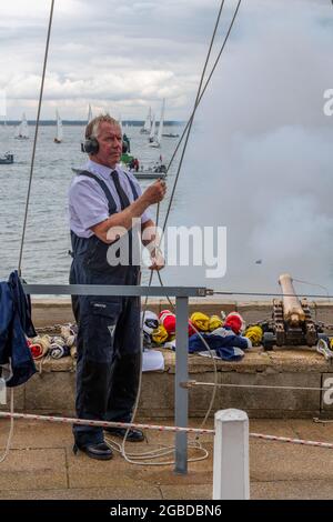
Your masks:
{"label": "whole low stone wall behind the man, top ledge and front face", "polygon": [[[73,322],[70,299],[33,299],[33,322],[37,328]],[[148,309],[157,313],[170,308],[167,300],[149,300]],[[208,315],[221,310],[239,311],[246,323],[271,317],[271,301],[236,302],[218,299],[191,299],[190,313],[202,311]],[[333,323],[333,303],[311,303],[313,319]],[[175,355],[162,350],[165,369],[162,372],[144,372],[139,404],[140,416],[172,418],[174,414]],[[14,390],[17,411],[44,414],[74,413],[75,362],[71,358],[38,362],[39,373],[26,385]],[[262,348],[250,350],[240,362],[216,361],[216,381],[225,384],[261,387],[321,388],[333,385],[333,365],[314,348],[284,348],[264,352]],[[191,380],[214,382],[213,363],[209,358],[189,355]],[[211,387],[189,390],[190,415],[203,416],[209,408]],[[333,393],[332,393],[333,398]],[[245,410],[254,418],[333,416],[330,391],[274,390],[253,388],[218,388],[212,412],[224,408]],[[333,402],[333,399],[332,399]],[[8,405],[1,406],[8,410]]]}

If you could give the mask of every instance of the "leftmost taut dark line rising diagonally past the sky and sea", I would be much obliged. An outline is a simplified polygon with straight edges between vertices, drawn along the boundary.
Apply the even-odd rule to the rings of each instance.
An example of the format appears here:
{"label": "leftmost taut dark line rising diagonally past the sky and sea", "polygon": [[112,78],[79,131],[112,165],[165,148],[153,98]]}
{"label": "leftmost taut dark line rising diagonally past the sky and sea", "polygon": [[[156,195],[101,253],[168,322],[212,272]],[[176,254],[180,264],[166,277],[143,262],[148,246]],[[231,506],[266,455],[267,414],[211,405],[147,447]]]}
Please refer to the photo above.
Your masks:
{"label": "leftmost taut dark line rising diagonally past the sky and sea", "polygon": [[49,53],[49,43],[50,43],[50,36],[51,36],[51,28],[52,28],[52,19],[53,19],[53,7],[54,7],[54,0],[51,0],[51,9],[50,9],[50,18],[49,18],[49,28],[48,28],[47,46],[46,46],[44,62],[43,62],[43,71],[42,71],[41,86],[40,86],[40,93],[39,93],[38,112],[37,112],[36,128],[34,128],[34,138],[33,138],[33,148],[32,148],[32,155],[31,155],[31,164],[30,164],[30,177],[29,177],[29,185],[28,185],[28,193],[27,193],[27,200],[26,200],[24,221],[23,221],[23,230],[22,230],[21,247],[20,247],[20,255],[19,255],[18,272],[19,272],[19,275],[20,275],[20,277],[21,277],[21,265],[22,265],[23,245],[24,245],[26,229],[27,229],[27,220],[28,220],[28,210],[29,210],[31,183],[32,183],[33,167],[34,167],[34,154],[36,154],[36,147],[37,147],[38,130],[39,130],[40,111],[41,111],[41,103],[42,103],[42,98],[43,98],[44,78],[46,78],[46,71],[47,71],[48,53]]}

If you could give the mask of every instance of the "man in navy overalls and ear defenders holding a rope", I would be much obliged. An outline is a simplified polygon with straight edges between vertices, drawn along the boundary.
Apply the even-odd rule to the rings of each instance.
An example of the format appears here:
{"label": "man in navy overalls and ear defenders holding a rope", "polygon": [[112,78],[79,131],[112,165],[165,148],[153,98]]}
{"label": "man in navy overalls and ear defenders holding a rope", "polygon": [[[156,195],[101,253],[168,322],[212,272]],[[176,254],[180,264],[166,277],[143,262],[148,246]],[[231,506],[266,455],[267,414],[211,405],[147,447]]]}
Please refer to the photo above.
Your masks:
{"label": "man in navy overalls and ear defenders holding a rope", "polygon": [[[89,161],[74,177],[69,191],[73,255],[70,283],[138,284],[140,261],[133,220],[139,222],[140,234],[149,227],[153,229],[147,209],[162,201],[165,183],[159,180],[142,193],[135,178],[119,167],[121,129],[109,114],[94,118],[87,126],[85,139],[83,148]],[[117,228],[125,233],[115,233]],[[150,268],[163,268],[154,235],[142,242],[150,243]],[[124,244],[129,245],[125,260],[121,255]],[[112,260],[110,263],[109,248],[119,254],[118,264]],[[130,422],[140,371],[140,299],[74,295],[72,304],[79,325],[77,415]],[[117,436],[125,433],[123,429],[107,431]],[[75,424],[73,434],[75,452],[80,449],[92,459],[112,458],[102,428]],[[143,433],[134,429],[127,438],[132,442],[143,439]]]}

